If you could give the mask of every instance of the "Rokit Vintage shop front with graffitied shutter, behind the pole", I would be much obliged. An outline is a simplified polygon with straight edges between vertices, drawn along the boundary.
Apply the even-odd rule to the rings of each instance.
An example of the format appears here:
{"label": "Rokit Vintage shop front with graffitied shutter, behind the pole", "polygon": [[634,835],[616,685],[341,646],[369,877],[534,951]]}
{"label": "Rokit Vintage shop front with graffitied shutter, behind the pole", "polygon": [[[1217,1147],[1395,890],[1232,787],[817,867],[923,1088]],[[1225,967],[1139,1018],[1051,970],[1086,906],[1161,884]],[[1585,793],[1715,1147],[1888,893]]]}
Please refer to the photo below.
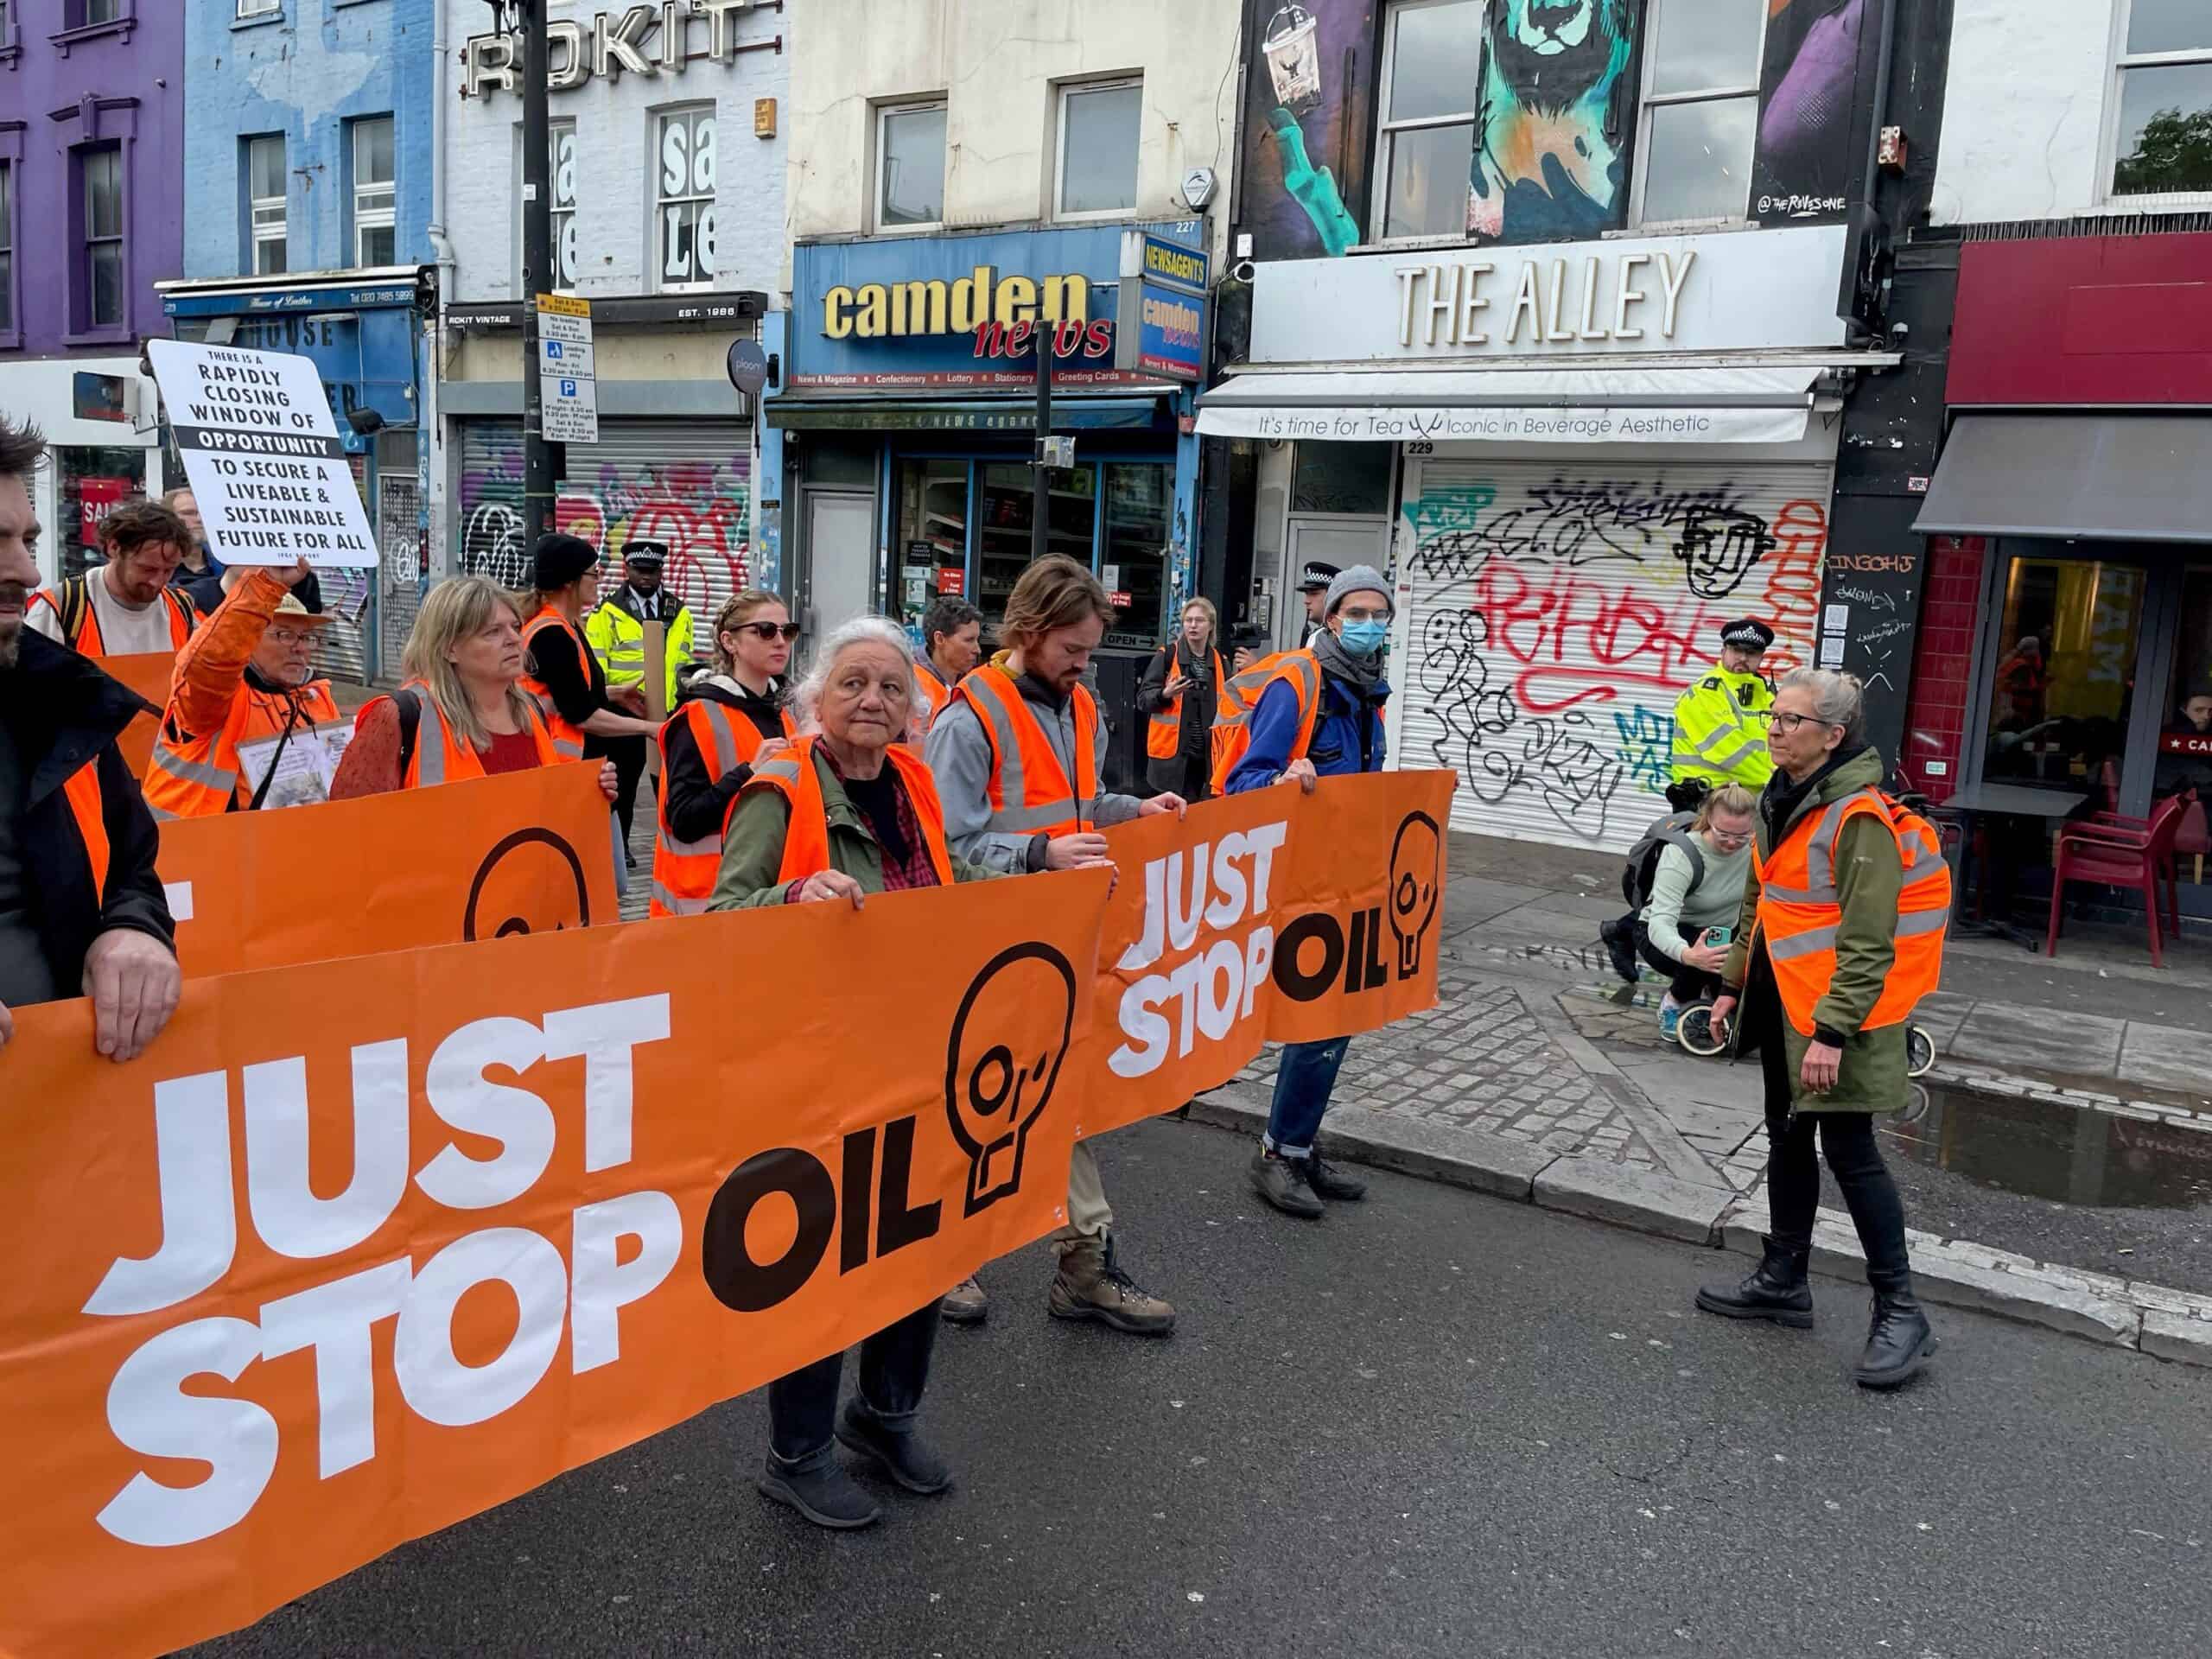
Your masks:
{"label": "Rokit Vintage shop front with graffitied shutter, behind the pole", "polygon": [[[599,436],[555,449],[553,526],[608,564],[633,540],[668,549],[666,582],[699,639],[732,593],[774,582],[754,557],[752,403],[726,361],[752,341],[759,292],[639,294],[593,301]],[[522,502],[522,312],[458,303],[440,383],[453,500],[449,555],[467,573],[520,586],[529,571]]]}

